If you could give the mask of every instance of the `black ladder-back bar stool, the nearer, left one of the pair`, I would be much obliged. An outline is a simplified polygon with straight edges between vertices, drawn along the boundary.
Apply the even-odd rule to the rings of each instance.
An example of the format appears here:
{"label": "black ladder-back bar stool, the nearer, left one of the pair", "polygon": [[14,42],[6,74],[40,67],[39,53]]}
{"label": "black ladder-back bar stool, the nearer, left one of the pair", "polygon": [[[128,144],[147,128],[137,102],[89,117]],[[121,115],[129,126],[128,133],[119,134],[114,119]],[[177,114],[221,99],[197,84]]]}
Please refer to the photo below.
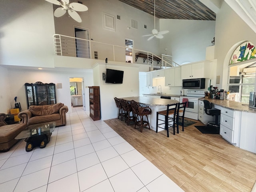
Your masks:
{"label": "black ladder-back bar stool, the nearer, left one of the pair", "polygon": [[[173,128],[173,134],[175,135],[175,121],[176,121],[176,111],[179,103],[167,105],[167,109],[164,111],[156,112],[156,132],[158,132],[158,127],[162,128],[160,125],[164,125],[164,128],[167,131],[167,137],[169,137],[169,128]],[[158,116],[163,115],[164,120],[159,119]],[[162,123],[158,124],[158,121]]]}

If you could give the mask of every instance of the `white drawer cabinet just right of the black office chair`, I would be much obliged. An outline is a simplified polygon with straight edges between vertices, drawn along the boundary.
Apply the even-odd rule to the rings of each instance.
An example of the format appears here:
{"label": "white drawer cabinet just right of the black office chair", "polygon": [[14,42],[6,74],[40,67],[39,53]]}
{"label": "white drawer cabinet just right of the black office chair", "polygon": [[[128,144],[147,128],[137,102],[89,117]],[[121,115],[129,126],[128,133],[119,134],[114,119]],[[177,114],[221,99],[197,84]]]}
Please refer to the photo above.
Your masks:
{"label": "white drawer cabinet just right of the black office chair", "polygon": [[240,146],[241,112],[220,108],[220,135],[234,146]]}

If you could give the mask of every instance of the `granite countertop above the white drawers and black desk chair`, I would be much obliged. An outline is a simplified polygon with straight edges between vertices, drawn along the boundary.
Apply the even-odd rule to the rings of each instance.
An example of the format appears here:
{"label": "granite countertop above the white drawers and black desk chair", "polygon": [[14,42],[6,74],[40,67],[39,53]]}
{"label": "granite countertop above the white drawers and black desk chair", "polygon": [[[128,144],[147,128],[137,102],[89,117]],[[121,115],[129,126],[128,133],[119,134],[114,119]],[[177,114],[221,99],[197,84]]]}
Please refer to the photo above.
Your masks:
{"label": "granite countertop above the white drawers and black desk chair", "polygon": [[210,101],[214,105],[225,107],[231,110],[256,113],[256,109],[250,108],[246,103],[230,101],[230,100],[209,99],[209,98],[200,98],[199,100],[204,100],[204,99]]}

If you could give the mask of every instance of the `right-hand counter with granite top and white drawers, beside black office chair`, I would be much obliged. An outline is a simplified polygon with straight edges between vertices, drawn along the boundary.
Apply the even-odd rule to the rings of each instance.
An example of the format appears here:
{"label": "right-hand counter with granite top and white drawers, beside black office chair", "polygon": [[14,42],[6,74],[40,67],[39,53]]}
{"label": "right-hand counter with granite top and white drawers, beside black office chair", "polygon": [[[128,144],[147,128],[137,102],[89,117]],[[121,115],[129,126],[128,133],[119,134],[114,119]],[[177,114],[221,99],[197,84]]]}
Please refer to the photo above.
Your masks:
{"label": "right-hand counter with granite top and white drawers, beside black office chair", "polygon": [[220,110],[220,135],[239,148],[256,153],[256,109],[230,100],[208,100]]}

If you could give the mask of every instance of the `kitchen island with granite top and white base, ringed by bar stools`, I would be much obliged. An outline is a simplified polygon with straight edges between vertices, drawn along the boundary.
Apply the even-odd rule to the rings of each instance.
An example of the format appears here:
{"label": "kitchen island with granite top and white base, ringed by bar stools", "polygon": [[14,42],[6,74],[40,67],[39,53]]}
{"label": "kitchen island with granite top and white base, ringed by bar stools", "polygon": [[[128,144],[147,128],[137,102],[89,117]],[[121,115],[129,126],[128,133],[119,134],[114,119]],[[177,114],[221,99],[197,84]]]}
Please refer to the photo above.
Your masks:
{"label": "kitchen island with granite top and white base, ringed by bar stools", "polygon": [[[166,110],[168,104],[179,103],[177,100],[172,99],[161,99],[152,97],[124,97],[121,98],[127,101],[134,100],[138,102],[141,106],[150,107],[152,110],[151,115],[149,115],[150,128],[156,131],[156,112]],[[162,129],[164,130],[164,129]],[[158,130],[161,131],[161,130]]]}

